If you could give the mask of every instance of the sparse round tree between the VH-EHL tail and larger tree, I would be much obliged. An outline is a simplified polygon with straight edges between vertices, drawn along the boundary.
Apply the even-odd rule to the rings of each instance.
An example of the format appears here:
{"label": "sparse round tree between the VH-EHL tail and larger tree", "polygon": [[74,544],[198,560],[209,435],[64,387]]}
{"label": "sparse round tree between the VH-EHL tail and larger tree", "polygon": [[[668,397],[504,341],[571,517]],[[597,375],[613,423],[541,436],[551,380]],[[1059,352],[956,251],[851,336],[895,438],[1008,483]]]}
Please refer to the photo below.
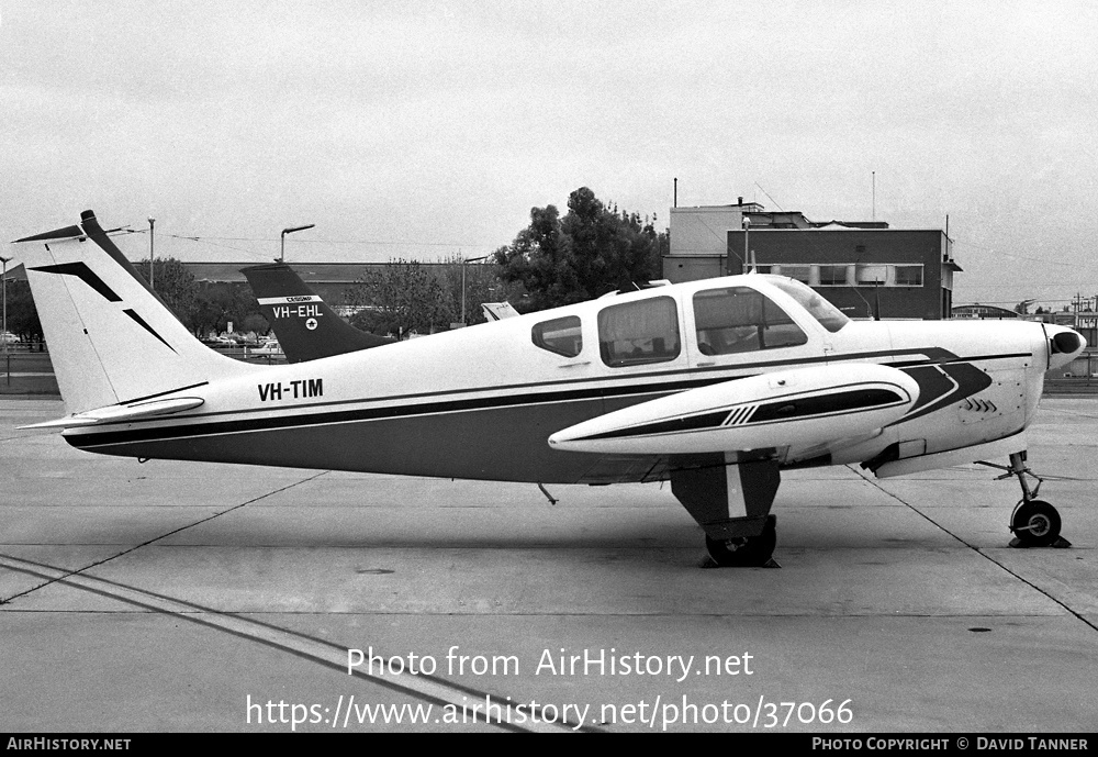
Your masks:
{"label": "sparse round tree between the VH-EHL tail and larger tree", "polygon": [[356,329],[395,334],[399,339],[449,323],[441,285],[415,260],[391,260],[368,270],[346,291],[344,301],[361,309],[350,321]]}

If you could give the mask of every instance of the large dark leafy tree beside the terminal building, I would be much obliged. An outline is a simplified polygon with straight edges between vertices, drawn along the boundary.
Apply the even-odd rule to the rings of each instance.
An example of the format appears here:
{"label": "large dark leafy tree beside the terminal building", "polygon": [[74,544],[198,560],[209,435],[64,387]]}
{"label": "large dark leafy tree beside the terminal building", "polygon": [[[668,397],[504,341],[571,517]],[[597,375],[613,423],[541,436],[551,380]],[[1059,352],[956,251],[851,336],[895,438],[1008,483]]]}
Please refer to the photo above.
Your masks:
{"label": "large dark leafy tree beside the terminal building", "polygon": [[664,238],[637,213],[609,210],[581,187],[561,219],[553,205],[533,208],[530,225],[495,252],[500,278],[529,293],[530,310],[581,302],[657,278]]}

